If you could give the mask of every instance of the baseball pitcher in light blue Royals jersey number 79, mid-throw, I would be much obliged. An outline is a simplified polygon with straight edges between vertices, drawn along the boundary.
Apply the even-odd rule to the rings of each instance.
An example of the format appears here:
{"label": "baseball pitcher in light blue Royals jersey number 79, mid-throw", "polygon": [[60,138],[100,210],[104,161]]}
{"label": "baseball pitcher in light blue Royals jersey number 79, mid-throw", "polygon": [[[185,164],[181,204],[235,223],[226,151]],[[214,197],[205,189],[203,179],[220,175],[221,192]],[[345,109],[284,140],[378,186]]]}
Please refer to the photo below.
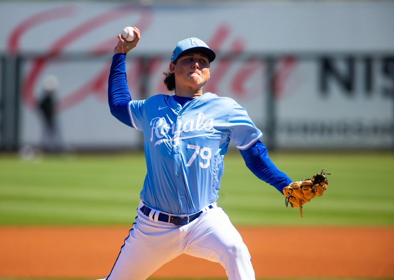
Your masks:
{"label": "baseball pitcher in light blue Royals jersey number 79, mid-throw", "polygon": [[216,203],[230,140],[248,168],[280,192],[292,180],[269,159],[244,108],[203,93],[215,52],[200,39],[184,39],[172,53],[164,84],[174,95],[132,100],[125,60],[140,40],[134,32],[131,42],[118,35],[108,102],[112,115],[143,133],[147,174],[133,228],[106,279],[144,280],[185,253],[219,262],[229,280],[254,280],[249,251]]}

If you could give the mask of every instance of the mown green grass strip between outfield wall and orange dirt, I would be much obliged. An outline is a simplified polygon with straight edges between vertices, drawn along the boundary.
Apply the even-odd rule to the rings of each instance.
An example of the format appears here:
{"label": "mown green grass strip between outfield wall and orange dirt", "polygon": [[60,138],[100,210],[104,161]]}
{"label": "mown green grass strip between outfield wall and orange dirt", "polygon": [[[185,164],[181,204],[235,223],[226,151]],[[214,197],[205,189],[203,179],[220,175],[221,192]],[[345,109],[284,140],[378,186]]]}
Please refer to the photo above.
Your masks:
{"label": "mown green grass strip between outfield wall and orange dirt", "polygon": [[[303,208],[286,208],[239,153],[225,157],[219,205],[235,225],[393,225],[392,153],[272,153],[293,180],[327,168],[328,190]],[[143,154],[0,155],[0,225],[127,225],[146,172]]]}

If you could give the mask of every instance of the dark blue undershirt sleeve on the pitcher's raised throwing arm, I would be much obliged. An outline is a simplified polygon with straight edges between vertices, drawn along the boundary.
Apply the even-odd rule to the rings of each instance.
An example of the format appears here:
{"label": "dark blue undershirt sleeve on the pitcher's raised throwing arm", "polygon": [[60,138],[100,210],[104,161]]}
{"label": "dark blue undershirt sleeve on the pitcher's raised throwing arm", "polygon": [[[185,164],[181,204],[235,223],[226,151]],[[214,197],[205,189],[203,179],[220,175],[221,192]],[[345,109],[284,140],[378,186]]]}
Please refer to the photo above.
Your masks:
{"label": "dark blue undershirt sleeve on the pitcher's raised throwing arm", "polygon": [[112,57],[108,78],[108,105],[111,114],[124,124],[131,127],[128,104],[131,101],[126,77],[126,54]]}

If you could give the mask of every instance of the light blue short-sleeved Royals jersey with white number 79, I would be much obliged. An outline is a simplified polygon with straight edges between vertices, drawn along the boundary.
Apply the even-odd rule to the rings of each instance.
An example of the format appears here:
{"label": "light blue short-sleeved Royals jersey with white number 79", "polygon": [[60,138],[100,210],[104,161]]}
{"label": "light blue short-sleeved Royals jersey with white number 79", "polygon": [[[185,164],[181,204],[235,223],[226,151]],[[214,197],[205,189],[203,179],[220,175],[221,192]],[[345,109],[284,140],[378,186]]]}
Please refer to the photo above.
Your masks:
{"label": "light blue short-sleeved Royals jersey with white number 79", "polygon": [[182,107],[159,94],[129,102],[131,124],[144,134],[147,174],[141,200],[172,214],[216,201],[230,140],[249,148],[262,132],[233,99],[204,93]]}

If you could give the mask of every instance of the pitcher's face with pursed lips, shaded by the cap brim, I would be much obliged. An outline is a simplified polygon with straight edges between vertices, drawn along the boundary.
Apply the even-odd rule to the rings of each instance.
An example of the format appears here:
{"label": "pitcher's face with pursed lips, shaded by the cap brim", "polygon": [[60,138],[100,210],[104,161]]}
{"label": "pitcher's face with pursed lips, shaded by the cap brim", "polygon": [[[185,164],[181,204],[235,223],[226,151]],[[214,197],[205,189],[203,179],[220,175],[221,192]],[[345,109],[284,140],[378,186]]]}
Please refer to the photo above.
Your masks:
{"label": "pitcher's face with pursed lips, shaded by the cap brim", "polygon": [[170,64],[175,73],[176,87],[201,88],[209,80],[209,59],[202,53],[189,53],[178,58],[176,64]]}

